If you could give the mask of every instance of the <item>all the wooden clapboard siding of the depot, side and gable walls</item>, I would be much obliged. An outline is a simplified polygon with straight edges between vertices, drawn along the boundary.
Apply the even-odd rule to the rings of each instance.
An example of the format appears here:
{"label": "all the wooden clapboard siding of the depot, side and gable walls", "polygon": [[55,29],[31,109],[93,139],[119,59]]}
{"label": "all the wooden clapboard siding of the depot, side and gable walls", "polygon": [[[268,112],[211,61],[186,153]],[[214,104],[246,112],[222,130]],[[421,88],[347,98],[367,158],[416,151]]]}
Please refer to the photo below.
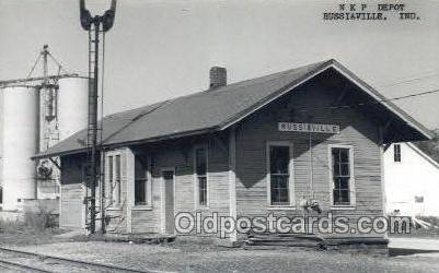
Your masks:
{"label": "all the wooden clapboard siding of the depot, side and gable walls", "polygon": [[[299,207],[301,199],[313,198],[320,202],[321,215],[333,212],[355,223],[361,216],[382,216],[381,162],[378,126],[357,109],[330,109],[339,98],[338,91],[307,84],[244,119],[235,128],[235,176],[230,174],[229,132],[159,142],[143,146],[124,147],[108,151],[120,153],[122,157],[122,206],[106,205],[106,215],[111,218],[107,230],[113,233],[163,233],[161,170],[175,169],[175,214],[199,212],[201,217],[213,212],[219,216],[233,215],[231,211],[230,179],[235,177],[236,215],[262,216],[274,212],[276,215],[302,216]],[[310,105],[312,107],[310,107]],[[334,123],[340,127],[339,134],[312,134],[313,189],[310,193],[310,150],[309,134],[299,132],[279,132],[278,122]],[[294,210],[269,210],[267,203],[267,162],[268,141],[289,141],[292,143]],[[354,175],[356,203],[351,210],[334,210],[331,205],[328,145],[344,144],[354,149]],[[209,206],[198,209],[195,203],[196,180],[194,176],[194,147],[208,147],[208,194]],[[139,153],[149,159],[151,170],[151,204],[148,207],[136,206],[132,192],[134,154]],[[71,163],[83,158],[70,158]],[[106,162],[107,165],[107,162]],[[106,166],[106,169],[108,166]],[[80,183],[74,164],[65,164],[63,185]],[[108,181],[106,181],[108,193]],[[65,192],[66,191],[66,192]],[[72,198],[78,188],[63,187],[62,203],[79,202]],[[69,193],[70,192],[70,193]],[[107,194],[108,198],[108,194]],[[81,200],[82,202],[82,200]],[[67,206],[66,206],[67,207]],[[233,207],[232,207],[233,209]],[[316,216],[316,213],[310,213]],[[234,215],[233,215],[234,216]],[[62,217],[62,216],[61,216]],[[218,235],[215,235],[218,236]]]}

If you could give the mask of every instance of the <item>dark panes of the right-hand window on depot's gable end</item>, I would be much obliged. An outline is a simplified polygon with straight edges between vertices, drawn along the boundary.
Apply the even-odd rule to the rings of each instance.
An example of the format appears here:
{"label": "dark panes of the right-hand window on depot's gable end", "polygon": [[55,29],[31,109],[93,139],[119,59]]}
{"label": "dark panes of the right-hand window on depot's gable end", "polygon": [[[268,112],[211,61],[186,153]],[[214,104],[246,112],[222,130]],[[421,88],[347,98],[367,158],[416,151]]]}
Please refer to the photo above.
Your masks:
{"label": "dark panes of the right-hand window on depot's gable end", "polygon": [[331,147],[334,205],[353,204],[353,163],[350,152],[350,147]]}

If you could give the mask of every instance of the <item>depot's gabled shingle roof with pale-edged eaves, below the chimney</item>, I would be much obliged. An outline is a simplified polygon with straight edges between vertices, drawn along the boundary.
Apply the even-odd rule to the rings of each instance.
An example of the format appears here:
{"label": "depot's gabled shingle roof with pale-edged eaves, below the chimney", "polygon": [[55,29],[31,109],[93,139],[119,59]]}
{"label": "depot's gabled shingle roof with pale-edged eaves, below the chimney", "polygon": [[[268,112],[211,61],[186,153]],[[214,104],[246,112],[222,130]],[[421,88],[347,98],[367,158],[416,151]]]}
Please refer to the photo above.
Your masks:
{"label": "depot's gabled shingle roof with pale-edged eaves, below the chimney", "polygon": [[[109,115],[103,119],[102,144],[135,144],[226,130],[331,68],[349,79],[425,139],[431,138],[424,126],[385,100],[340,63],[328,60]],[[85,136],[86,130],[82,130],[36,157],[81,152],[85,149]]]}

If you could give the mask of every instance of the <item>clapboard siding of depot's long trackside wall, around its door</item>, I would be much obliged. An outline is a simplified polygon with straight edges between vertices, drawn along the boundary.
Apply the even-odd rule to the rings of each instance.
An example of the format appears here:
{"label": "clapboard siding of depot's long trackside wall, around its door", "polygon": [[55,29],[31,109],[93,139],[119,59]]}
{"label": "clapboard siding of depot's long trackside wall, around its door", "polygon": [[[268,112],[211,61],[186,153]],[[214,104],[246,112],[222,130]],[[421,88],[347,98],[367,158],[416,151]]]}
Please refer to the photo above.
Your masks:
{"label": "clapboard siding of depot's long trackside wall, around its door", "polygon": [[[155,146],[131,147],[131,150],[123,149],[108,152],[120,153],[123,166],[125,166],[123,169],[125,170],[122,175],[123,206],[118,210],[109,206],[106,209],[106,214],[111,217],[107,230],[115,233],[164,233],[162,223],[164,213],[162,210],[163,182],[161,178],[161,170],[163,168],[175,168],[175,214],[181,212],[193,214],[200,212],[203,216],[208,216],[217,212],[219,215],[229,215],[229,154],[227,142],[226,144],[219,144],[219,142],[221,142],[220,139],[205,138],[180,142],[178,145],[161,143]],[[208,147],[208,209],[197,209],[195,204],[193,152],[194,147],[199,144],[206,144]],[[130,207],[128,207],[130,202],[127,200],[127,188],[129,183],[134,183],[134,177],[129,178],[126,171],[127,169],[129,171],[129,168],[134,168],[132,163],[127,164],[127,158],[132,152],[150,158],[148,165],[151,171],[152,197],[151,204],[147,207],[134,205],[132,200]],[[128,218],[129,223],[127,223]]]}

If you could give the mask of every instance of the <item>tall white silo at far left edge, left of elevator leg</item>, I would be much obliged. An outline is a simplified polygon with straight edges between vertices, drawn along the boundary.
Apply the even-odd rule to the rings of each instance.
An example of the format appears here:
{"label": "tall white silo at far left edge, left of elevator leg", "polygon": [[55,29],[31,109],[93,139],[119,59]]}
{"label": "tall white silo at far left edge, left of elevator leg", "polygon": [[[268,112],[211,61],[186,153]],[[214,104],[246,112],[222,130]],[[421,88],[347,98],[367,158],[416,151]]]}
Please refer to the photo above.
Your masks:
{"label": "tall white silo at far left edge, left of elevator leg", "polygon": [[10,86],[3,93],[2,183],[3,210],[18,210],[21,199],[36,198],[35,162],[38,152],[38,91]]}

